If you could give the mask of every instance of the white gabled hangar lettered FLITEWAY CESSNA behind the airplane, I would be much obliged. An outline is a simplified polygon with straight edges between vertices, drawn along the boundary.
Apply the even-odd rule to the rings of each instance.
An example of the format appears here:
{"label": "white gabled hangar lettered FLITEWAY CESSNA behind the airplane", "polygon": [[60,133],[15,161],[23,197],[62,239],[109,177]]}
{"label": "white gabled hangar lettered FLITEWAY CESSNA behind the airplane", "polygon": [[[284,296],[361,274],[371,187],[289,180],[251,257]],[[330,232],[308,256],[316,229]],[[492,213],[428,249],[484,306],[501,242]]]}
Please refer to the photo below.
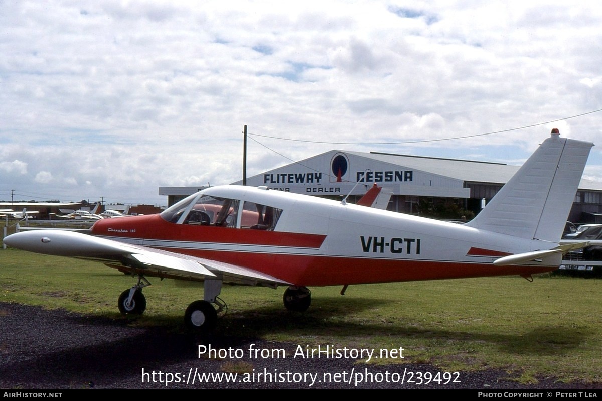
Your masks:
{"label": "white gabled hangar lettered FLITEWAY CESSNA behind the airplane", "polygon": [[[249,177],[247,185],[331,199],[350,194],[349,200],[355,202],[376,183],[391,194],[388,210],[416,214],[424,202],[456,205],[476,214],[519,168],[485,161],[332,150]],[[173,196],[168,190],[160,188],[160,194]],[[569,220],[602,223],[602,182],[582,179]]]}

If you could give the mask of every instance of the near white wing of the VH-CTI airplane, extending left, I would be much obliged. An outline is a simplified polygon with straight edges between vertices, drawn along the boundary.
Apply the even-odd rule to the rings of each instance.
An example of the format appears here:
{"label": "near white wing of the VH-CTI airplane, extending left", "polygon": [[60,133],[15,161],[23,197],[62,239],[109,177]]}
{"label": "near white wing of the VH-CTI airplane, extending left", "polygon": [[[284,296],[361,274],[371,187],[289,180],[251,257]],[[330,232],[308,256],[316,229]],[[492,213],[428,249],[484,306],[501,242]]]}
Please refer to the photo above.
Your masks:
{"label": "near white wing of the VH-CTI airplane, extending left", "polygon": [[29,252],[94,260],[122,272],[145,276],[191,281],[219,278],[225,282],[267,287],[291,285],[246,267],[107,240],[81,232],[52,229],[24,231],[8,235],[4,243]]}

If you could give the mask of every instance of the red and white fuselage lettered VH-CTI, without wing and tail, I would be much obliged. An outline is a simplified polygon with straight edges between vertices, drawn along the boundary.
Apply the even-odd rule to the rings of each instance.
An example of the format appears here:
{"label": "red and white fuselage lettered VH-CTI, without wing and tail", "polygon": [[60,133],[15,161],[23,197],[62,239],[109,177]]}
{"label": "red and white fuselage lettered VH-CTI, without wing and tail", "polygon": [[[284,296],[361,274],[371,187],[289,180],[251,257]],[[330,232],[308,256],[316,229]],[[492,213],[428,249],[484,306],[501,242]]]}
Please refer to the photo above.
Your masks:
{"label": "red and white fuselage lettered VH-CTI, without wing and tail", "polygon": [[[557,246],[453,223],[305,195],[227,186],[203,194],[279,208],[273,230],[169,222],[161,215],[99,220],[94,235],[220,260],[299,286],[495,275],[557,268],[559,258],[494,266],[502,256]],[[199,194],[201,196],[201,194]]]}

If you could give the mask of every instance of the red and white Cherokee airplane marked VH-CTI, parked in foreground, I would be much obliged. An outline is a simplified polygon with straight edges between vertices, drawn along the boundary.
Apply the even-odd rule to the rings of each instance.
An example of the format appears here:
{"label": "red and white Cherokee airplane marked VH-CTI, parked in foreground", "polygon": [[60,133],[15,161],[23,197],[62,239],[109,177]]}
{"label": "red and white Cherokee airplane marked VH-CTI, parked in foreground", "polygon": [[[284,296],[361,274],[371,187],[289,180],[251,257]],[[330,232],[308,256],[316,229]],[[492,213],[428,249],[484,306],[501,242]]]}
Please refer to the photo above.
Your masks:
{"label": "red and white Cherokee airplane marked VH-CTI, parked in foreground", "polygon": [[224,282],[284,285],[285,306],[303,311],[311,286],[498,275],[532,279],[532,273],[557,269],[563,253],[583,246],[559,241],[593,144],[552,132],[464,225],[225,185],[206,188],[161,214],[99,220],[92,235],[29,231],[9,235],[5,243],[90,258],[137,276],[137,284],[119,297],[123,313],[144,311],[146,277],[203,281],[203,300],[185,312],[191,328],[215,325],[225,306],[218,297]]}

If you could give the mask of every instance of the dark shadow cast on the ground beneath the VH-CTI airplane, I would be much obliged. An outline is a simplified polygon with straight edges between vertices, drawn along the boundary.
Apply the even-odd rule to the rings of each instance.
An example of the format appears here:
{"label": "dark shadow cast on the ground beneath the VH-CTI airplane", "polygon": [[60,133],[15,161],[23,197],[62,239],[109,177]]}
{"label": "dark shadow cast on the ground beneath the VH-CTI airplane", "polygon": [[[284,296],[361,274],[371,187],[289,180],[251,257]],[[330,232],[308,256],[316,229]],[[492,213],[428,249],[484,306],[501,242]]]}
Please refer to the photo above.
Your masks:
{"label": "dark shadow cast on the ground beneath the VH-CTI airplane", "polygon": [[[323,306],[324,305],[324,306]],[[291,312],[279,306],[234,311],[219,320],[211,338],[278,338],[280,341],[305,344],[329,344],[337,341],[349,344],[352,341],[370,342],[374,337],[396,338],[403,343],[406,338],[422,341],[425,344],[441,344],[442,341],[464,343],[488,343],[500,352],[510,355],[550,355],[562,356],[577,349],[592,333],[583,328],[562,325],[526,328],[517,333],[491,333],[491,329],[466,330],[462,327],[450,329],[450,325],[434,322],[414,322],[389,312],[382,316],[370,316],[370,311],[379,311],[388,305],[382,299],[348,299],[341,297],[320,297],[306,312]],[[365,316],[369,316],[368,318]],[[137,325],[160,325],[173,332],[185,332],[182,316],[158,314],[143,317]]]}

